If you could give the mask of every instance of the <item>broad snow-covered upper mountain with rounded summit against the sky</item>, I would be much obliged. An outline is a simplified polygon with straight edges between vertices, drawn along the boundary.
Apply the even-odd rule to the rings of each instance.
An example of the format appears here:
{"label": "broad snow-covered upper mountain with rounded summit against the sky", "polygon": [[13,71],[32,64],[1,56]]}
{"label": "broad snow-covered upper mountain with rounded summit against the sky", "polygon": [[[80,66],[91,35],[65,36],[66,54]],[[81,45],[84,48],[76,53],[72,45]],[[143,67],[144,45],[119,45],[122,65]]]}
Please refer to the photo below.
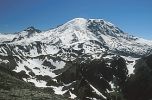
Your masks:
{"label": "broad snow-covered upper mountain with rounded summit against the sky", "polygon": [[[26,56],[55,54],[57,51],[70,48],[83,49],[84,53],[90,54],[102,53],[107,50],[122,55],[141,56],[149,53],[152,46],[152,41],[124,33],[103,19],[87,20],[84,18],[75,18],[45,32],[29,27],[19,32],[9,44],[21,45],[26,49],[29,44],[37,44],[37,42],[40,42],[40,47],[43,48],[41,53],[35,50],[37,55],[33,55],[32,52],[25,54]],[[54,50],[50,50],[50,48]]]}

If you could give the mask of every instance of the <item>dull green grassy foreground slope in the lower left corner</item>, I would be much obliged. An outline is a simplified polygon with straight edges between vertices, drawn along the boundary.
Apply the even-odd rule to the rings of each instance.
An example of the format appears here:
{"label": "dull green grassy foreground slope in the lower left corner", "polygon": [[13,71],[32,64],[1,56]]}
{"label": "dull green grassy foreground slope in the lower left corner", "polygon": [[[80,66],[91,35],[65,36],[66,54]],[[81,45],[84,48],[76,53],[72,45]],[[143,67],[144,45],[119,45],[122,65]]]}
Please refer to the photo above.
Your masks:
{"label": "dull green grassy foreground slope in the lower left corner", "polygon": [[[70,100],[55,95],[52,88],[37,88],[33,83],[20,80],[14,77],[14,73],[0,66],[0,100]],[[24,76],[25,72],[19,74]]]}

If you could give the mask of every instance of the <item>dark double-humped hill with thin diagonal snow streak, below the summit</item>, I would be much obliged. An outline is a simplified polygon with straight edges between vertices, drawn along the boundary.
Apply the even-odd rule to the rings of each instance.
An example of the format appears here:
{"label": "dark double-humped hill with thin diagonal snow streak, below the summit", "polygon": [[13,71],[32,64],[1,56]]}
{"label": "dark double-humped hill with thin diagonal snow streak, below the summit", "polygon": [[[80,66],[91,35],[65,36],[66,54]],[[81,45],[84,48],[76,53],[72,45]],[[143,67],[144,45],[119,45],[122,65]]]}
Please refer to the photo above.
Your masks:
{"label": "dark double-humped hill with thin diagonal snow streak, below the summit", "polygon": [[[122,57],[115,57],[110,63],[109,66],[105,60],[93,60],[81,64],[79,68],[80,74],[84,80],[87,80],[87,82],[83,82],[85,84],[84,87],[86,87],[87,84],[91,84],[106,96],[108,100],[123,100],[122,91],[128,75],[126,61]],[[107,90],[112,90],[109,84],[110,81],[113,81],[117,87],[115,89],[116,92],[114,91],[111,94],[107,93]],[[83,87],[82,84],[80,84],[80,86]],[[91,92],[88,93],[87,96],[99,98]],[[100,99],[102,100],[103,98],[100,97]]]}

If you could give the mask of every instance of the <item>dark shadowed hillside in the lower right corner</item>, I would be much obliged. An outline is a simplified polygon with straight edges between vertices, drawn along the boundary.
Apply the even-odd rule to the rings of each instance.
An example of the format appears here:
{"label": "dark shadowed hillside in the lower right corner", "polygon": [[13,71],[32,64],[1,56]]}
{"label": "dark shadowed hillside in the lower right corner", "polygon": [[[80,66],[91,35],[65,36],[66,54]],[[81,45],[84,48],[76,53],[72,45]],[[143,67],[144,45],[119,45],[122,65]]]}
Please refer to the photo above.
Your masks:
{"label": "dark shadowed hillside in the lower right corner", "polygon": [[152,99],[152,55],[138,60],[124,91],[128,100]]}

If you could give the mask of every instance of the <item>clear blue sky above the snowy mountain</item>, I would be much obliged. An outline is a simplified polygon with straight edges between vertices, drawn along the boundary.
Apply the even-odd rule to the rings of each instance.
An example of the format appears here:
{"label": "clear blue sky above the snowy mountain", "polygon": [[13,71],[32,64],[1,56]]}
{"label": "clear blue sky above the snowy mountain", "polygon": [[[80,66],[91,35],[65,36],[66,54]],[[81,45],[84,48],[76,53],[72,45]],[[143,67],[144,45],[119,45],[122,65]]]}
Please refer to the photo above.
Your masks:
{"label": "clear blue sky above the snowy mountain", "polygon": [[152,0],[0,0],[0,33],[48,30],[76,17],[105,19],[152,40]]}

